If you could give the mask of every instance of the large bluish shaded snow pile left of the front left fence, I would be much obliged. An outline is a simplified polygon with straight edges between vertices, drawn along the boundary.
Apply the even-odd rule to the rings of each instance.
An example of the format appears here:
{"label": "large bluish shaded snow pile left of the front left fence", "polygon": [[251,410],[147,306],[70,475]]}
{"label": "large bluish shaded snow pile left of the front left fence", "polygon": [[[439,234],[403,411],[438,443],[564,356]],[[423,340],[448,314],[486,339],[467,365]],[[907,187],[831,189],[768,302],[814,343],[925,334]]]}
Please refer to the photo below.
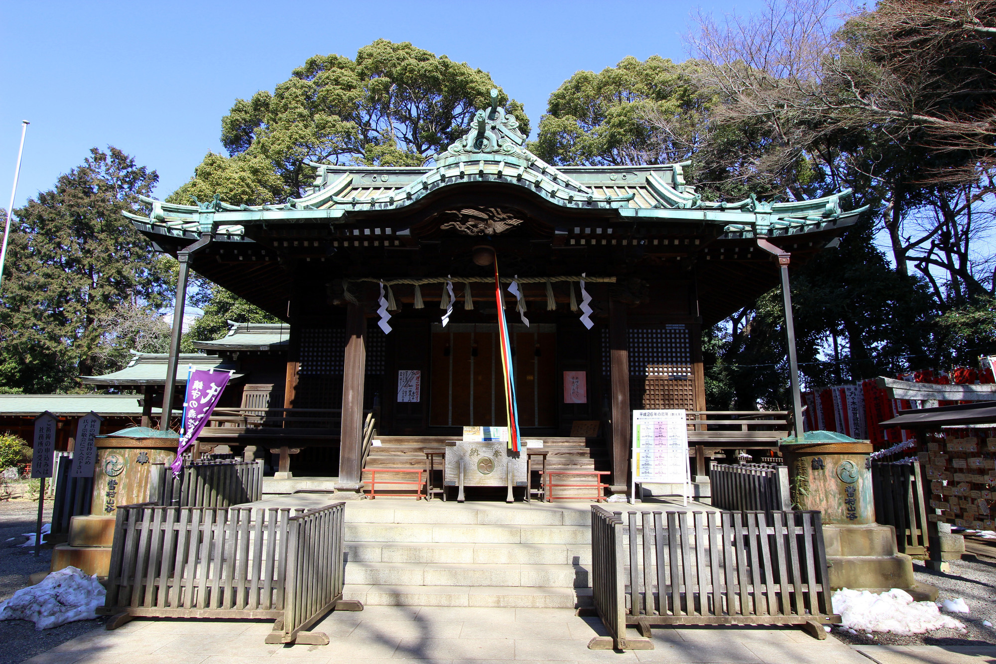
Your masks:
{"label": "large bluish shaded snow pile left of the front left fence", "polygon": [[105,594],[96,574],[88,576],[77,567],[65,567],[0,602],[0,620],[31,620],[39,630],[74,620],[93,620]]}

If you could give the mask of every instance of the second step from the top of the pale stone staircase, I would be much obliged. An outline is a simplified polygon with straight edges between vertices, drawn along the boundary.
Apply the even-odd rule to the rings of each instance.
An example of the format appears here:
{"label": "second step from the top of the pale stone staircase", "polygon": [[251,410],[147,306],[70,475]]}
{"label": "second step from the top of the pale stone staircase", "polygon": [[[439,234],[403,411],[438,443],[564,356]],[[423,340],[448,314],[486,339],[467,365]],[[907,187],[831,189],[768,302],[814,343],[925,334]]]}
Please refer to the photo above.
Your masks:
{"label": "second step from the top of the pale stone staircase", "polygon": [[346,523],[346,540],[436,543],[589,544],[590,525]]}

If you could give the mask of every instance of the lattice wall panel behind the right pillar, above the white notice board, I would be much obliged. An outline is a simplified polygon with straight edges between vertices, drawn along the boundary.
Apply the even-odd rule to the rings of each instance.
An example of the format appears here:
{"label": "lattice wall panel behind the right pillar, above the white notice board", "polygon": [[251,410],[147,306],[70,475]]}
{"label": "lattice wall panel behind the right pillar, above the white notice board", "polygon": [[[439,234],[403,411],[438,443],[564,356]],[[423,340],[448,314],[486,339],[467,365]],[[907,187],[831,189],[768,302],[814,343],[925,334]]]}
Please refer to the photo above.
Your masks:
{"label": "lattice wall panel behind the right pillar, above the white notice board", "polygon": [[[629,328],[629,398],[645,409],[695,409],[691,338],[684,325]],[[603,374],[610,376],[609,331],[603,330]]]}

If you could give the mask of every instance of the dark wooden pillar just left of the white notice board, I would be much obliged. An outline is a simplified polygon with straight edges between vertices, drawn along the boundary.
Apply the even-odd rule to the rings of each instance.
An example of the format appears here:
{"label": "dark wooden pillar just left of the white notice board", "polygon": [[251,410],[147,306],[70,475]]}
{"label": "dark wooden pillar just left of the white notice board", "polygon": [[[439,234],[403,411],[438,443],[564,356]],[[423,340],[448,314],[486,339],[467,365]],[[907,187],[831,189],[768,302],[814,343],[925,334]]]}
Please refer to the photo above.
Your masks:
{"label": "dark wooden pillar just left of the white notice board", "polygon": [[625,494],[628,486],[629,448],[629,346],[625,303],[609,302],[609,362],[612,373],[613,492]]}

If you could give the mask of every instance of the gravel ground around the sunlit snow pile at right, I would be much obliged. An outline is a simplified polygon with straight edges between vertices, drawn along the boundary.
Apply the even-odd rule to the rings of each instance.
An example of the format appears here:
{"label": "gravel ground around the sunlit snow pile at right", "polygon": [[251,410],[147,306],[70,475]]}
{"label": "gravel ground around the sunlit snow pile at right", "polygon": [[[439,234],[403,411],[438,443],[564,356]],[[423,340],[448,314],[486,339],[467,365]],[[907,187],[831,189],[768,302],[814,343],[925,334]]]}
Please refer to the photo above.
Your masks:
{"label": "gravel ground around the sunlit snow pile at right", "polygon": [[[994,550],[996,553],[996,550]],[[943,574],[927,569],[913,561],[913,574],[917,581],[938,588],[937,600],[963,597],[971,613],[945,613],[965,624],[967,633],[957,629],[936,629],[926,634],[899,636],[873,632],[851,634],[835,628],[834,636],[852,645],[996,645],[996,627],[983,625],[984,620],[996,624],[996,557],[966,554],[961,560],[951,562],[951,573]]]}

